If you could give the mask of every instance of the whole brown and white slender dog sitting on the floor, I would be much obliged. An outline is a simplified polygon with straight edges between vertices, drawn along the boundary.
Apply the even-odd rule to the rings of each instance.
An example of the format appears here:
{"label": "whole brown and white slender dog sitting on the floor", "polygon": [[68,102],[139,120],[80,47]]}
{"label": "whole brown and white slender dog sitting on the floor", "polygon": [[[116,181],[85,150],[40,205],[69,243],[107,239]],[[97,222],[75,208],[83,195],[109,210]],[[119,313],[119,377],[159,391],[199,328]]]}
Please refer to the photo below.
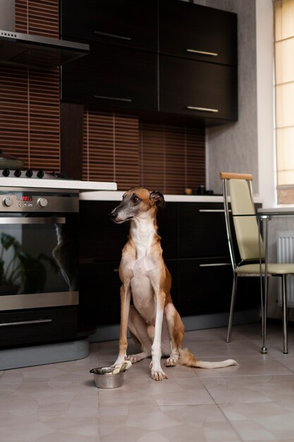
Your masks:
{"label": "whole brown and white slender dog sitting on the floor", "polygon": [[[110,213],[111,220],[118,224],[130,220],[130,233],[119,267],[121,330],[115,364],[125,359],[134,364],[151,356],[151,377],[155,381],[168,378],[161,368],[161,355],[168,357],[166,366],[175,366],[177,362],[203,369],[238,365],[233,359],[197,361],[181,347],[184,326],[171,300],[171,275],[157,234],[157,208],[164,205],[164,196],[159,191],[134,188],[123,195],[123,201]],[[142,351],[138,354],[127,356],[127,328],[132,338],[140,342]]]}

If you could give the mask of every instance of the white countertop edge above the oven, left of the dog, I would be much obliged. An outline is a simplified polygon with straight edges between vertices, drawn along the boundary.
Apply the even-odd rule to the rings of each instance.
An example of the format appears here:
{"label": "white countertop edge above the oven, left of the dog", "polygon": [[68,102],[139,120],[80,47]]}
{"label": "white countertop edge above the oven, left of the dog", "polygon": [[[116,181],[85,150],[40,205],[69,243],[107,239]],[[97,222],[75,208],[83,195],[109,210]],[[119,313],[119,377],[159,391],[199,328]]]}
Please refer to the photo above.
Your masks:
{"label": "white countertop edge above the oven, left of the dog", "polygon": [[0,178],[0,187],[27,187],[33,189],[69,189],[78,191],[116,191],[116,183],[107,181],[80,181],[75,179]]}

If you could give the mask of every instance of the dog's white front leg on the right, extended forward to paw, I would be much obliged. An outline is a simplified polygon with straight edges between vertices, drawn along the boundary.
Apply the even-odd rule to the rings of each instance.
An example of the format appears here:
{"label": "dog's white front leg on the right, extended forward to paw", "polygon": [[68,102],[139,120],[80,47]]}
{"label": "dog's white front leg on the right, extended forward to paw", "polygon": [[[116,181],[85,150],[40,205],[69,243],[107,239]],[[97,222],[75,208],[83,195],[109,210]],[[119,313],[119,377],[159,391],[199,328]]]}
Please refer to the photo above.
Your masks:
{"label": "dog's white front leg on the right, extended forward to paw", "polygon": [[163,290],[157,292],[156,295],[156,318],[155,318],[155,329],[154,329],[154,340],[151,347],[152,350],[152,362],[151,366],[151,377],[154,381],[162,381],[167,379],[168,376],[161,369],[161,329],[162,321],[164,319],[164,302],[165,293]]}

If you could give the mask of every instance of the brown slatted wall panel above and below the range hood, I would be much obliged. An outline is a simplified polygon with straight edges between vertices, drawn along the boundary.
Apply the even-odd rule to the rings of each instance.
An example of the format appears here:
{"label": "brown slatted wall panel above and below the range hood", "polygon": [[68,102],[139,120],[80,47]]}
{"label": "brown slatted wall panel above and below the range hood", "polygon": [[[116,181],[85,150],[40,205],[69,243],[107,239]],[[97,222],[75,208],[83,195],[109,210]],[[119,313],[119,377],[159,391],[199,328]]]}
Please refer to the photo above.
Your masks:
{"label": "brown slatted wall panel above and below the range hood", "polygon": [[[16,0],[16,31],[59,36],[58,0]],[[60,172],[59,68],[0,66],[0,149]]]}

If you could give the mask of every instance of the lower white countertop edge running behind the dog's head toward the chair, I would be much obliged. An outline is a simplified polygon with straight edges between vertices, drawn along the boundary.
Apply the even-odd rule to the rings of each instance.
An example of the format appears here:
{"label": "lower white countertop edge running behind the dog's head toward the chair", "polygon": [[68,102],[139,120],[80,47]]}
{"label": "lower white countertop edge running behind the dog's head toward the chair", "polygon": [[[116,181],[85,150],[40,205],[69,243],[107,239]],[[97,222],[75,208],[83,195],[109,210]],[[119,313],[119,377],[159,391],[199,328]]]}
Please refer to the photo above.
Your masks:
{"label": "lower white countertop edge running behind the dog's head toward the chair", "polygon": [[[124,191],[81,192],[82,201],[121,201]],[[223,203],[221,195],[164,195],[167,203]],[[262,203],[262,198],[256,197],[255,203]]]}

